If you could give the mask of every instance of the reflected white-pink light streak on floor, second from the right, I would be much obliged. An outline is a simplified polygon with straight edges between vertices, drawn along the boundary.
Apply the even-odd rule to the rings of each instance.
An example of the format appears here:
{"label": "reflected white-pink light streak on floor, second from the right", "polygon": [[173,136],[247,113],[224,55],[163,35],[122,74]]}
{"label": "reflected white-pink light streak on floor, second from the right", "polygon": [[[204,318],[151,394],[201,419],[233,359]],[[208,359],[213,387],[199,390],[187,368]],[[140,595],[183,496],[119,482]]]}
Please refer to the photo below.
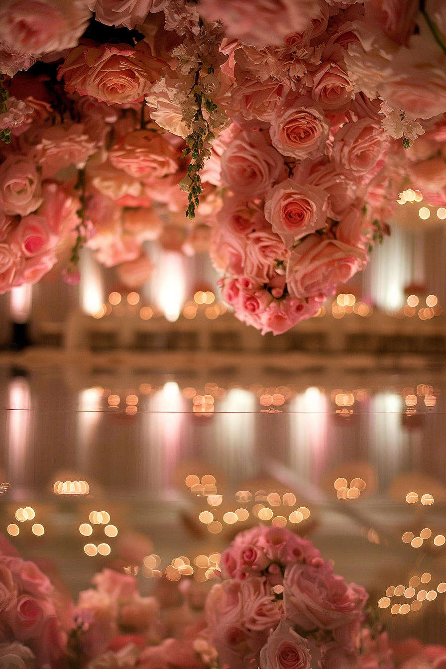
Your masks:
{"label": "reflected white-pink light streak on floor, second from the right", "polygon": [[306,483],[316,483],[326,460],[327,399],[318,388],[296,395],[290,406],[292,470]]}

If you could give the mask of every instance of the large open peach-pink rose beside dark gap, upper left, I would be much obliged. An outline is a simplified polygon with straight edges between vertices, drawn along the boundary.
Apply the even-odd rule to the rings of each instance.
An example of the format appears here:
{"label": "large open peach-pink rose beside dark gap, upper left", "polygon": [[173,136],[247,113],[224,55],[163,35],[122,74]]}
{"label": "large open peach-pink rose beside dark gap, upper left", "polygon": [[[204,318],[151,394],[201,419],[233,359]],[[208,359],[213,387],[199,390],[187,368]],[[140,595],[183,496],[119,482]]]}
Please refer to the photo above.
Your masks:
{"label": "large open peach-pink rose beside dark gap, upper left", "polygon": [[144,41],[128,44],[80,45],[59,68],[69,93],[91,95],[107,104],[140,102],[165,63],[154,58]]}

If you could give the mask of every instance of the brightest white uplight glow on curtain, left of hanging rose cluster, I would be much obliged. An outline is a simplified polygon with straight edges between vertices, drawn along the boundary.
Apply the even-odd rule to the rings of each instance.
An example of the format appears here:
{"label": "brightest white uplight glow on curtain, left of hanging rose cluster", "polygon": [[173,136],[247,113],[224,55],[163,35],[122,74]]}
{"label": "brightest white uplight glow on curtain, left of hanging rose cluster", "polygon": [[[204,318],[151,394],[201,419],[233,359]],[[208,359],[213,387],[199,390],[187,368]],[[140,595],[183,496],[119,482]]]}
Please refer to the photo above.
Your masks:
{"label": "brightest white uplight glow on curtain, left of hanging rose cluster", "polygon": [[156,302],[170,322],[178,320],[185,294],[185,272],[181,254],[164,252]]}

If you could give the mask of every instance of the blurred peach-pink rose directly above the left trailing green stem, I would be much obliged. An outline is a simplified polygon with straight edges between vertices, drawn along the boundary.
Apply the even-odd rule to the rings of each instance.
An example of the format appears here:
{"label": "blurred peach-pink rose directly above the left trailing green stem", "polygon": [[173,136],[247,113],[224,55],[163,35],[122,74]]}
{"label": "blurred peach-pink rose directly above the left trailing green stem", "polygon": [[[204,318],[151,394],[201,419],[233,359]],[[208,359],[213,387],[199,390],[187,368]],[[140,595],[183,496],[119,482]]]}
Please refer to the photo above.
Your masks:
{"label": "blurred peach-pink rose directly above the left trailing green stem", "polygon": [[74,123],[45,128],[33,147],[32,157],[42,168],[42,179],[49,179],[70,165],[84,167],[95,152],[96,142],[86,134],[84,125]]}

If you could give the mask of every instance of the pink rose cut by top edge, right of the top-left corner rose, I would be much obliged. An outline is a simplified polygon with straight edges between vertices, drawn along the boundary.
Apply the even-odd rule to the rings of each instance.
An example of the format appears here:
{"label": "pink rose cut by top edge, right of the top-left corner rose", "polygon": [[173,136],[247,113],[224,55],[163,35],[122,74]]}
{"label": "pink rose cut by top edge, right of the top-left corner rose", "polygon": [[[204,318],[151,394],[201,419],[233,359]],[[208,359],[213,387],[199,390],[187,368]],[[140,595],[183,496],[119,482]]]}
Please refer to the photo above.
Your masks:
{"label": "pink rose cut by top edge, right of the top-left corner rose", "polygon": [[117,28],[134,28],[144,23],[149,12],[164,9],[167,0],[90,0],[88,7],[96,14],[96,21]]}

